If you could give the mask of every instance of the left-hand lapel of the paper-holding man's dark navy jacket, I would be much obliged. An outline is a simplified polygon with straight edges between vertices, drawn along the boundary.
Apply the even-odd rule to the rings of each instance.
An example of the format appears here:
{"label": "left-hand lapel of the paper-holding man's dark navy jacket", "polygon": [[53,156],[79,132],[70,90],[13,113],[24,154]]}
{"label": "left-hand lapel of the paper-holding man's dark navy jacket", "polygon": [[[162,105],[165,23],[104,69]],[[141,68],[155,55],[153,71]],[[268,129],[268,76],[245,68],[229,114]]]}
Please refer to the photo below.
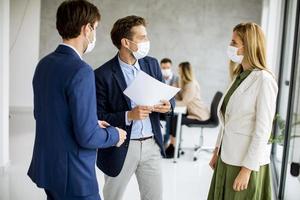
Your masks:
{"label": "left-hand lapel of the paper-holding man's dark navy jacket", "polygon": [[[127,84],[126,84],[126,81],[125,81],[125,77],[124,77],[124,74],[121,70],[121,67],[120,67],[120,64],[119,64],[119,61],[118,61],[118,55],[115,56],[114,60],[113,60],[113,75],[114,75],[114,78],[116,79],[118,85],[119,85],[119,88],[121,89],[122,93],[123,91],[127,88]],[[123,94],[124,95],[124,94]],[[124,95],[125,99],[126,99],[126,103],[128,105],[128,108],[131,109],[131,101],[130,99]]]}

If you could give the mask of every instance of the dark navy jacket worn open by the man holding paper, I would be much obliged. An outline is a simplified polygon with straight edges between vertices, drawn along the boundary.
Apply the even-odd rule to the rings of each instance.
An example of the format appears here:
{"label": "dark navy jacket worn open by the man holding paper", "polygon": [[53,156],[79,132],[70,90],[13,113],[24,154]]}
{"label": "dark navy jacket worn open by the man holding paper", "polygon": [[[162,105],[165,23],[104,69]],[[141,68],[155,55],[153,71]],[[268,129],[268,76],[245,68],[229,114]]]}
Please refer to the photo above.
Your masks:
{"label": "dark navy jacket worn open by the man holding paper", "polygon": [[[140,59],[141,70],[155,79],[164,82],[159,64],[155,58],[145,57]],[[99,149],[97,157],[97,166],[108,176],[117,176],[123,167],[131,134],[131,125],[127,126],[125,122],[125,112],[131,110],[130,99],[123,94],[127,84],[121,70],[118,55],[95,70],[96,96],[98,119],[105,120],[112,126],[120,127],[127,132],[127,139],[120,147],[111,147]],[[171,101],[172,108],[175,106],[175,100]],[[161,126],[159,113],[150,114],[150,121],[154,138],[165,156],[162,142]]]}

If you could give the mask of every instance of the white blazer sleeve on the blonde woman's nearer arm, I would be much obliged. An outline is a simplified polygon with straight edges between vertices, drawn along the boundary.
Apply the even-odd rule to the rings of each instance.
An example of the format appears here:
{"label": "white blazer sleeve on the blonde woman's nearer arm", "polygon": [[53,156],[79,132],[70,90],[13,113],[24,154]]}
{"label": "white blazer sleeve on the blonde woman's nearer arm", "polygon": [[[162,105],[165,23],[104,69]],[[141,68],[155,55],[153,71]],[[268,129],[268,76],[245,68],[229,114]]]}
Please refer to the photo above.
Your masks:
{"label": "white blazer sleeve on the blonde woman's nearer arm", "polygon": [[277,84],[271,77],[263,77],[256,101],[255,133],[242,165],[258,171],[260,157],[263,155],[272,131],[276,109]]}

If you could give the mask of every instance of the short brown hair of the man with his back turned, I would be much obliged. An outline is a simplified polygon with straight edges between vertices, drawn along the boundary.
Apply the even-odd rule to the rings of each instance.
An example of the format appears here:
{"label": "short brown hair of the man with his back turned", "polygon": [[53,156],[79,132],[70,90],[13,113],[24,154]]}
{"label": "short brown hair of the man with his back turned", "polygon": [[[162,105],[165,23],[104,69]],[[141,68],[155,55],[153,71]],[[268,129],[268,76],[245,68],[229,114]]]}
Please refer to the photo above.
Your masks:
{"label": "short brown hair of the man with his back turned", "polygon": [[92,26],[100,21],[98,8],[86,0],[67,0],[57,9],[56,29],[63,39],[72,39],[80,35],[81,27]]}

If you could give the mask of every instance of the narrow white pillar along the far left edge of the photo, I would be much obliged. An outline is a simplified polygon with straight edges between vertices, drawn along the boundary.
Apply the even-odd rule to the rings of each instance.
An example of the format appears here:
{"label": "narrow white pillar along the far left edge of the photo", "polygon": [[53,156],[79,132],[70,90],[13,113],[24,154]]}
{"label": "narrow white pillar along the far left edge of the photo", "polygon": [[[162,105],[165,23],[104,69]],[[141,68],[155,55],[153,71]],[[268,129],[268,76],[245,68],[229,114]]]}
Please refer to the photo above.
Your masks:
{"label": "narrow white pillar along the far left edge of the photo", "polygon": [[0,0],[0,173],[9,162],[9,0]]}

